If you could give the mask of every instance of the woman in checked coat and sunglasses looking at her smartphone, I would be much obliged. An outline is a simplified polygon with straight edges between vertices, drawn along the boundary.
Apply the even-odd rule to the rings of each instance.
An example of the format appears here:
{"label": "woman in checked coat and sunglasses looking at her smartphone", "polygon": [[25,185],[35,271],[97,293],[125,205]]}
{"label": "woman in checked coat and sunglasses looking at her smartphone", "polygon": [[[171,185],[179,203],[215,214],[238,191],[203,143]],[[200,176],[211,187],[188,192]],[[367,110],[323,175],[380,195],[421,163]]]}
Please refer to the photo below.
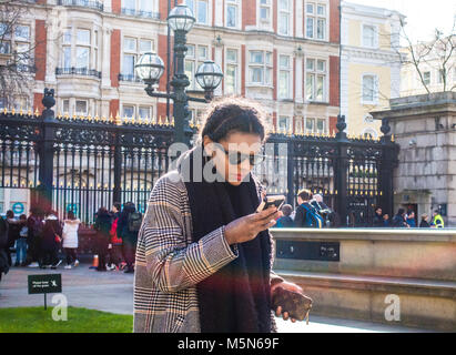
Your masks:
{"label": "woman in checked coat and sunglasses looking at her smartphone", "polygon": [[155,183],[138,239],[134,332],[274,332],[274,288],[302,292],[271,272],[277,207],[256,212],[264,122],[246,99],[212,103],[196,146]]}

